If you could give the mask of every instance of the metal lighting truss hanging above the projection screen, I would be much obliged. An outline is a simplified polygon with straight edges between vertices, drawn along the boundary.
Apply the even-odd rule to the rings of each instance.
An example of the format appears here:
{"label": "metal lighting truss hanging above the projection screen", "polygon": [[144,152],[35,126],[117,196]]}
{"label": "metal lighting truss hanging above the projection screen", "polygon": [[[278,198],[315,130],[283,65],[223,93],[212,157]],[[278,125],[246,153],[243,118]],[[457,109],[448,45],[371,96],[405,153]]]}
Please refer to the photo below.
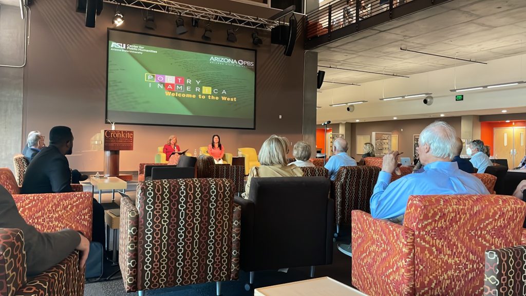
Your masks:
{"label": "metal lighting truss hanging above the projection screen", "polygon": [[260,17],[183,4],[170,0],[104,0],[104,2],[145,9],[147,11],[194,17],[216,23],[264,29],[267,31],[270,31],[271,28],[280,25],[279,21],[272,21],[270,19]]}

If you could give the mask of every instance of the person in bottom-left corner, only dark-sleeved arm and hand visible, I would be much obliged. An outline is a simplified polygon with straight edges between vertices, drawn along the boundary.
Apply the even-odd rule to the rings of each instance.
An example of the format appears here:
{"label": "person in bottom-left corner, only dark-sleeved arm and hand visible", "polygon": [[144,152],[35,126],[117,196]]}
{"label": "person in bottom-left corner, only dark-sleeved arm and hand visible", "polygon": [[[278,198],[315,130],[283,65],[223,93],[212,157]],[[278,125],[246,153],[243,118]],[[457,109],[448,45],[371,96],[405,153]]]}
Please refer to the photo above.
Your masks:
{"label": "person in bottom-left corner, only dark-sleeved arm and hand visible", "polygon": [[13,196],[0,185],[0,228],[16,228],[24,233],[26,274],[42,273],[64,260],[74,250],[80,251],[79,267],[84,268],[88,258],[89,242],[84,235],[65,229],[41,233],[28,225],[16,208]]}

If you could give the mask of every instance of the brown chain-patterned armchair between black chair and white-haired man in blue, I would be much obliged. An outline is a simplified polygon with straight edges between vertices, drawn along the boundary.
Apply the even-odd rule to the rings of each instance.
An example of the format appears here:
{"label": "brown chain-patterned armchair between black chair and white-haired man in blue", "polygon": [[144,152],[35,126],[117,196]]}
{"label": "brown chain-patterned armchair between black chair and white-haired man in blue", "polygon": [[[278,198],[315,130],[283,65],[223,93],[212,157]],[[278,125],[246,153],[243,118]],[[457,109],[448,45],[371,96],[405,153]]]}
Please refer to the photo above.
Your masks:
{"label": "brown chain-patterned armchair between black chair and white-haired man in blue", "polygon": [[371,212],[370,199],[380,168],[358,165],[342,166],[334,182],[336,233],[340,224],[351,223],[351,211]]}

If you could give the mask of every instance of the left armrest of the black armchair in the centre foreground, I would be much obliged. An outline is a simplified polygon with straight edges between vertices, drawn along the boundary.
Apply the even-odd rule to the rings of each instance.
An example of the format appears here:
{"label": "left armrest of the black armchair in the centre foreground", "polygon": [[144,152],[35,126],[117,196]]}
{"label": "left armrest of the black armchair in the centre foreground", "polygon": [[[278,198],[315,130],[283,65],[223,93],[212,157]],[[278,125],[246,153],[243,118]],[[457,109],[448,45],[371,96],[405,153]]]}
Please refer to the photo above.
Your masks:
{"label": "left armrest of the black armchair in the centre foreground", "polygon": [[[255,205],[251,200],[246,200],[239,196],[234,198],[234,206],[241,206],[241,236],[243,242],[241,243],[240,255],[241,255],[241,269],[246,269],[252,264],[251,257],[247,256],[250,254],[249,250],[254,249],[254,213]],[[246,250],[246,251],[245,251]]]}

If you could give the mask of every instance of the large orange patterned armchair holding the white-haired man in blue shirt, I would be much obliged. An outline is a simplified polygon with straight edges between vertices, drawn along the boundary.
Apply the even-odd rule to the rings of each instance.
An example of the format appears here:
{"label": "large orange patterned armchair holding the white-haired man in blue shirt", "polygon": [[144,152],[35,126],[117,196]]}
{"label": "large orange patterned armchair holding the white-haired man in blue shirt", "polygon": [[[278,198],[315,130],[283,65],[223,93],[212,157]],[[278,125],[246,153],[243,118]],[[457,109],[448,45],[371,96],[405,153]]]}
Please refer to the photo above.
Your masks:
{"label": "large orange patterned armchair holding the white-haired man in blue shirt", "polygon": [[403,225],[352,211],[352,284],[371,295],[481,295],[484,252],[518,245],[526,203],[412,195]]}

